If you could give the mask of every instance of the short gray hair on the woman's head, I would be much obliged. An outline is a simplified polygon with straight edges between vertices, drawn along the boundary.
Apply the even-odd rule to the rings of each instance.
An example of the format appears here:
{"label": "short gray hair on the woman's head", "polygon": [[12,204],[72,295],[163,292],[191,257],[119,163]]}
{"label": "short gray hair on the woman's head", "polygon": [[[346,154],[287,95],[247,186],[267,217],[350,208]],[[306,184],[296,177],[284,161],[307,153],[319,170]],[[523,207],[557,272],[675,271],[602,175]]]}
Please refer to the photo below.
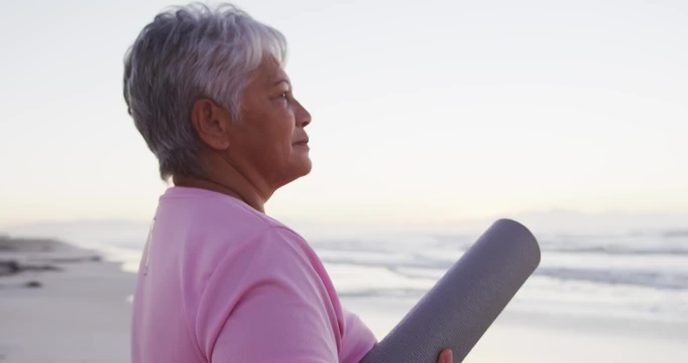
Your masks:
{"label": "short gray hair on the woman's head", "polygon": [[235,5],[173,7],[143,28],[125,55],[124,96],[136,128],[160,162],[160,177],[206,175],[191,109],[209,98],[239,122],[241,91],[266,56],[286,61],[281,32]]}

